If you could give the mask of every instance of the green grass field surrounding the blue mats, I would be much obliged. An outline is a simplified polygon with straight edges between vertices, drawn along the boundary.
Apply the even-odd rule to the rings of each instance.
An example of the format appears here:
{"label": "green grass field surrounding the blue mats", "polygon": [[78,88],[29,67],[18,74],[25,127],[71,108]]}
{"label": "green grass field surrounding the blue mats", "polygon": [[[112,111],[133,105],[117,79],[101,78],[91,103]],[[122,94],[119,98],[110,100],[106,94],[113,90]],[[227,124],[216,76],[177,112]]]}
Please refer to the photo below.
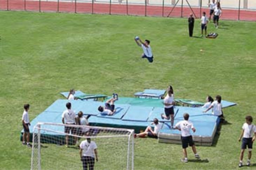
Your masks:
{"label": "green grass field surrounding the blue mats", "polygon": [[[221,21],[217,30],[210,23],[208,32],[219,34],[214,40],[189,38],[187,19],[0,12],[0,23],[0,169],[30,168],[31,149],[19,141],[23,104],[31,104],[33,120],[70,88],[133,96],[168,84],[175,97],[204,101],[220,94],[238,106],[224,110],[231,124],[222,126],[217,143],[197,147],[208,163],[184,164],[180,145],[136,139],[135,169],[238,167],[244,116],[256,121],[256,22]],[[194,34],[200,35],[198,20]],[[151,41],[153,63],[140,58],[135,35]]]}

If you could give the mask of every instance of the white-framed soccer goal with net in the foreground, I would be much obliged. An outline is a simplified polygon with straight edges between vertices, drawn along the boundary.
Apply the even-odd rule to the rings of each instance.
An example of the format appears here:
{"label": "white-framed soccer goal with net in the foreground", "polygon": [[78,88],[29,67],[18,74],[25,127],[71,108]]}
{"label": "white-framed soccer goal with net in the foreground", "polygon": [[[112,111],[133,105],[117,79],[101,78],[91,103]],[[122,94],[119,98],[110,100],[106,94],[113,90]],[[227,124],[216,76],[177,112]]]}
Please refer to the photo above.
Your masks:
{"label": "white-framed soccer goal with net in the foreground", "polygon": [[38,123],[31,169],[133,170],[133,135],[131,129]]}

